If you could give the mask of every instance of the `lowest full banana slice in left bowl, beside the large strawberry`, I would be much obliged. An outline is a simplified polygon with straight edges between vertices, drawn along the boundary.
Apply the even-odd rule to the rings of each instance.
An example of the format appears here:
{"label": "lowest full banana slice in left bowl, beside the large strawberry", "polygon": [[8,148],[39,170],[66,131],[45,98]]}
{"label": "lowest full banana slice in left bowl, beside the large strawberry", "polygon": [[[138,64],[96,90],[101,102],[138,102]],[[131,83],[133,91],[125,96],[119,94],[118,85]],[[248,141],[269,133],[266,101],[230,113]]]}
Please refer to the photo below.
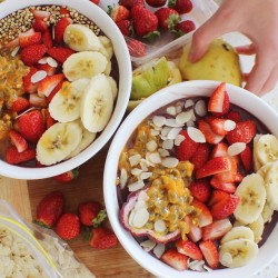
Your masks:
{"label": "lowest full banana slice in left bowl, beside the large strawberry", "polygon": [[82,130],[77,122],[57,122],[40,138],[37,159],[42,165],[54,165],[66,159],[81,142]]}

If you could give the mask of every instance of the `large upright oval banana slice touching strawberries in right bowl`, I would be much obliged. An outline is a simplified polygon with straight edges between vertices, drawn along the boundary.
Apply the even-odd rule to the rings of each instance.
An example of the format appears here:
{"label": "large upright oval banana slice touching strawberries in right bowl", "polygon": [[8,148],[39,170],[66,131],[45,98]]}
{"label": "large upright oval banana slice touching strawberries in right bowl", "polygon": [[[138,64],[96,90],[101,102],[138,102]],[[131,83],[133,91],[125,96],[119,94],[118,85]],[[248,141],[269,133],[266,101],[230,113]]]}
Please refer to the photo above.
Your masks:
{"label": "large upright oval banana slice touching strawberries in right bowl", "polygon": [[240,201],[234,216],[242,224],[251,224],[258,219],[266,202],[265,182],[258,173],[246,176],[236,192]]}

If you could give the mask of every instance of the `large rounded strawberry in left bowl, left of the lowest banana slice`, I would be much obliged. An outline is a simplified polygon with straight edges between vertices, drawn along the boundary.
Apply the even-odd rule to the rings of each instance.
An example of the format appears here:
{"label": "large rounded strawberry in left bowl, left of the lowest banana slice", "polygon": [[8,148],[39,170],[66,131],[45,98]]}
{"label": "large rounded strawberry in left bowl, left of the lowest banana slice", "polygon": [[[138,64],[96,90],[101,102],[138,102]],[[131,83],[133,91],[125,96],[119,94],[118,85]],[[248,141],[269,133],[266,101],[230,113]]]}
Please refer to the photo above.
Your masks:
{"label": "large rounded strawberry in left bowl, left of the lowest banana slice", "polygon": [[46,130],[44,120],[39,110],[33,110],[20,116],[16,128],[30,142],[37,142]]}

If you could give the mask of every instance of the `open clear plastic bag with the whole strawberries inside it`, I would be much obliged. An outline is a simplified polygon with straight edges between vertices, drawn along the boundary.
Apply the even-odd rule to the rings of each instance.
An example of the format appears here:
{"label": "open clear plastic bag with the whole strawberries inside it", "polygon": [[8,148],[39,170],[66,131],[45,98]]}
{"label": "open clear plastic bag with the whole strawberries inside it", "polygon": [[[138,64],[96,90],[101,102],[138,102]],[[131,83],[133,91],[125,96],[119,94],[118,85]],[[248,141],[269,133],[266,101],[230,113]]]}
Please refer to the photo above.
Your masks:
{"label": "open clear plastic bag with the whole strawberries inside it", "polygon": [[101,6],[125,36],[136,64],[185,46],[217,9],[212,0],[119,0]]}

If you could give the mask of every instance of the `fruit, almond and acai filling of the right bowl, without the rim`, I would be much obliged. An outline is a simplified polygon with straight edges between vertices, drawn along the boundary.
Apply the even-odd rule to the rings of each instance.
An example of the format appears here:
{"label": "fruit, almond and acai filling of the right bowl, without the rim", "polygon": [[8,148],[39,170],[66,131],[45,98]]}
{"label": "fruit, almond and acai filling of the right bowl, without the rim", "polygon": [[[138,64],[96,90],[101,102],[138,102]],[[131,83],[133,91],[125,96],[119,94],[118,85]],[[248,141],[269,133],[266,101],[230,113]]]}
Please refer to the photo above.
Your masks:
{"label": "fruit, almond and acai filling of the right bowl, without the rim", "polygon": [[226,83],[148,116],[118,162],[120,222],[177,270],[251,262],[277,222],[278,139]]}

